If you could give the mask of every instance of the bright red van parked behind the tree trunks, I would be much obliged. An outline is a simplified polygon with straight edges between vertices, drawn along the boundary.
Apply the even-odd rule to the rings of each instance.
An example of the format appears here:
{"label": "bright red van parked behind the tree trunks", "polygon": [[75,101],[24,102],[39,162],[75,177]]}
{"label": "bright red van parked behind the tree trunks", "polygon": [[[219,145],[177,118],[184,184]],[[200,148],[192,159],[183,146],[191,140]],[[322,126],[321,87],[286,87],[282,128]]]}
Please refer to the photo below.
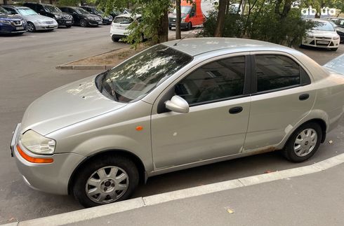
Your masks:
{"label": "bright red van parked behind the tree trunks", "polygon": [[[192,29],[193,26],[199,26],[206,20],[207,12],[213,8],[214,2],[209,0],[194,0],[193,3],[182,0],[180,10],[182,13],[182,20],[180,23],[181,29]],[[176,27],[176,9],[173,13],[168,15],[168,27]]]}

